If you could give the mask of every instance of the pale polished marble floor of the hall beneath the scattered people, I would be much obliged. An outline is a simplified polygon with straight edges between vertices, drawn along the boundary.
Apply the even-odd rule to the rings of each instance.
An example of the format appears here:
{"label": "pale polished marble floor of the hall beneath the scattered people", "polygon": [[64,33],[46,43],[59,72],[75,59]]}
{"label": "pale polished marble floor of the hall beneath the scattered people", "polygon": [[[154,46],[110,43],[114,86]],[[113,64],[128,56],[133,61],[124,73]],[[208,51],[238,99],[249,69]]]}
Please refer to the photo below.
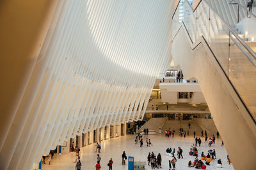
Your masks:
{"label": "pale polished marble floor of the hall beneath the scattered people", "polygon": [[[113,169],[128,169],[128,166],[122,166],[122,152],[125,151],[128,155],[134,156],[135,161],[147,161],[148,152],[154,152],[156,155],[161,153],[163,159],[163,170],[168,170],[168,160],[170,157],[165,155],[166,148],[175,148],[177,150],[178,146],[180,146],[183,150],[184,159],[178,159],[176,163],[176,169],[191,169],[192,167],[188,167],[188,162],[195,159],[195,157],[189,155],[189,148],[193,145],[195,139],[190,138],[181,138],[176,136],[175,138],[166,138],[164,135],[156,134],[156,135],[148,135],[143,136],[143,139],[150,138],[153,146],[147,147],[144,142],[143,148],[140,148],[140,145],[134,144],[134,135],[127,135],[119,138],[113,138],[106,141],[102,141],[102,150],[100,153],[100,157],[102,158],[100,161],[101,170],[108,169],[108,160],[110,158],[113,159]],[[202,139],[204,141],[204,138]],[[221,146],[221,139],[216,139],[216,144],[211,147],[211,149],[216,150],[217,159],[221,159],[223,163],[222,170],[234,169],[232,164],[229,165],[227,163],[227,152],[225,147]],[[198,147],[198,153],[201,152],[207,153],[209,150],[209,146],[206,143],[202,143],[200,147]],[[50,169],[76,169],[76,163],[74,160],[76,159],[75,153],[63,153],[61,155],[54,155],[52,158],[51,165],[47,164],[48,160],[46,159],[46,164],[43,164],[42,169],[50,170]],[[95,146],[89,145],[81,149],[81,162],[83,170],[93,170],[95,169],[95,164],[97,162],[97,153],[95,153]],[[211,165],[207,166],[206,169],[216,169],[217,160],[212,160]],[[151,167],[149,168],[151,169]]]}

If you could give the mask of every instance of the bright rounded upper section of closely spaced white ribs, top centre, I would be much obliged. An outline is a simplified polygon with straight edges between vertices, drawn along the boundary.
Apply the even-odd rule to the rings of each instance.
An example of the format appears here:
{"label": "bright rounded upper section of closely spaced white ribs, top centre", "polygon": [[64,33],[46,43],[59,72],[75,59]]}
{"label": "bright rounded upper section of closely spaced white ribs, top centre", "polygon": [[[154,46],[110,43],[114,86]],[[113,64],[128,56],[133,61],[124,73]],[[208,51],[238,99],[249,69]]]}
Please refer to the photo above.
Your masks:
{"label": "bright rounded upper section of closely spaced white ribs, top centre", "polygon": [[154,58],[170,55],[169,7],[170,1],[88,1],[94,41],[118,66],[149,73],[150,67],[143,71],[148,62],[157,66]]}

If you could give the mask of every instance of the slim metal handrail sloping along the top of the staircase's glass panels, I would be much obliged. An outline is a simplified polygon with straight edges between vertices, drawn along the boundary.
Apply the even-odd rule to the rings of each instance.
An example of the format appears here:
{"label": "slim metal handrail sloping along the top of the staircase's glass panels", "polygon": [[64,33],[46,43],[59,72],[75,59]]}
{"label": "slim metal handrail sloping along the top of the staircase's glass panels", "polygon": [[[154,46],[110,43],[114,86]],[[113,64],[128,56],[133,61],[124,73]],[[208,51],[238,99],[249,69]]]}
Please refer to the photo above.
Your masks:
{"label": "slim metal handrail sloping along the top of the staircase's glass panels", "polygon": [[[189,4],[188,0],[184,0],[184,1],[186,1],[186,3]],[[202,0],[202,1],[205,1],[205,3],[208,4],[208,6],[211,8],[211,10],[214,12],[214,14],[220,19],[221,23],[222,23],[223,25],[225,25],[225,27],[226,27],[230,32],[232,32],[232,34],[236,37],[236,39],[237,39],[237,40],[243,45],[243,47],[252,55],[252,57],[253,57],[254,59],[252,59],[252,57],[250,57],[250,56],[248,56],[248,55],[246,55],[246,57],[250,60],[250,62],[252,62],[253,66],[256,67],[256,61],[255,61],[255,60],[256,60],[256,53],[253,52],[252,48],[250,48],[250,46],[248,46],[248,45],[243,41],[243,39],[241,39],[241,37],[237,35],[236,31],[234,31],[234,29],[232,29],[232,27],[231,27],[229,24],[227,24],[227,22],[225,22],[225,20],[217,13],[216,10],[214,10],[214,8],[211,6],[211,4],[209,4],[208,1],[206,1],[206,0]],[[200,1],[200,3],[202,3],[202,1]],[[198,6],[199,6],[200,3],[198,3]],[[191,6],[191,5],[189,4],[189,6]],[[197,6],[196,6],[196,7],[197,7]],[[192,8],[192,7],[191,7],[191,8]],[[195,12],[195,10],[194,10],[194,12]]]}

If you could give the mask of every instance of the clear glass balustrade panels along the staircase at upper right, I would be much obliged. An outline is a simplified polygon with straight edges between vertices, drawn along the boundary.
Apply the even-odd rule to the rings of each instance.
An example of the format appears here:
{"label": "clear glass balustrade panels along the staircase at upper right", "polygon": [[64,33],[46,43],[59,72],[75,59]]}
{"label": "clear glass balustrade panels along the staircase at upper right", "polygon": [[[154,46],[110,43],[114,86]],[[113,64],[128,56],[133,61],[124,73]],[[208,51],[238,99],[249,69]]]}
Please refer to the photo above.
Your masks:
{"label": "clear glass balustrade panels along the staircase at upper right", "polygon": [[[256,54],[232,27],[218,15],[211,4],[202,0],[194,11],[187,0],[182,22],[192,43],[203,37],[223,69],[237,95],[255,122]],[[175,15],[179,15],[176,14]],[[173,20],[177,16],[173,15]],[[179,22],[179,20],[175,20]],[[177,30],[177,29],[176,29]]]}

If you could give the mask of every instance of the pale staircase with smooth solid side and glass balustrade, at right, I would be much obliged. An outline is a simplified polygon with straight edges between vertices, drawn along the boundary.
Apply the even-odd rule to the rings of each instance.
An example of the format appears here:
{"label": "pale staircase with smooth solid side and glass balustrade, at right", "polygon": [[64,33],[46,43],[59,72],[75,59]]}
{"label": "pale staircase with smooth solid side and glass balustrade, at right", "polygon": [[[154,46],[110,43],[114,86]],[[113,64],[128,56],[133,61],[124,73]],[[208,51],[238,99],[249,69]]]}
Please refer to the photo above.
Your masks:
{"label": "pale staircase with smooth solid side and glass balustrade, at right", "polygon": [[195,9],[188,1],[180,5],[184,17],[173,15],[173,61],[185,79],[198,79],[235,169],[256,169],[256,54],[208,1]]}

